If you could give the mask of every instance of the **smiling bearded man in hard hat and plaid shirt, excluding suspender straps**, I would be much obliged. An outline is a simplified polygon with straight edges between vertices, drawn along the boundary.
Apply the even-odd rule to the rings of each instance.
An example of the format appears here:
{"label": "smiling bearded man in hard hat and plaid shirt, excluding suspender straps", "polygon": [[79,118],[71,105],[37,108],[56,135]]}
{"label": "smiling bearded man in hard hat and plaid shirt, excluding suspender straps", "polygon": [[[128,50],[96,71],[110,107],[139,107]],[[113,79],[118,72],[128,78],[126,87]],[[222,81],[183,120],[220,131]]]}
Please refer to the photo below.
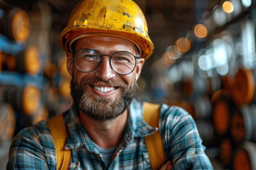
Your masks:
{"label": "smiling bearded man in hard hat and plaid shirt, excluding suspender straps", "polygon": [[[153,53],[144,14],[132,0],[82,0],[59,37],[67,55],[74,106],[63,114],[70,169],[150,170],[144,137],[154,133],[135,101],[136,81]],[[183,109],[162,105],[161,170],[212,169],[195,122]],[[56,169],[47,122],[13,139],[7,169]]]}

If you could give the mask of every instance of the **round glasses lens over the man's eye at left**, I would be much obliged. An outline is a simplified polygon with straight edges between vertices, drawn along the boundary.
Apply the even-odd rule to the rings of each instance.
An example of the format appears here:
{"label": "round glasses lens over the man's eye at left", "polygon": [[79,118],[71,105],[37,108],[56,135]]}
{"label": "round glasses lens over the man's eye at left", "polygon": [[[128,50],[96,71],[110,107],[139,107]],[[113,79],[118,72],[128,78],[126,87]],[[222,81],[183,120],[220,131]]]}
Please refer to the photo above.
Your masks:
{"label": "round glasses lens over the man's eye at left", "polygon": [[96,69],[100,61],[101,57],[99,53],[92,49],[81,49],[75,54],[76,67],[84,72],[90,72]]}

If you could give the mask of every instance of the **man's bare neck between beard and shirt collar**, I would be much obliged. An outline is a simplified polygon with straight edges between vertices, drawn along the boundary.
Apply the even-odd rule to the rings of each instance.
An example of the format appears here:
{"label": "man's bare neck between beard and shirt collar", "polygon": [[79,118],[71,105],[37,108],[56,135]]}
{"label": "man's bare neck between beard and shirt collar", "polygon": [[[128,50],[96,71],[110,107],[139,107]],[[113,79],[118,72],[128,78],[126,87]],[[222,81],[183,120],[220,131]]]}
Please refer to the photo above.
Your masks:
{"label": "man's bare neck between beard and shirt collar", "polygon": [[83,127],[94,143],[101,148],[112,148],[119,144],[119,141],[124,135],[128,110],[125,110],[123,114],[110,121],[94,121],[88,119],[81,110],[79,110],[79,114]]}

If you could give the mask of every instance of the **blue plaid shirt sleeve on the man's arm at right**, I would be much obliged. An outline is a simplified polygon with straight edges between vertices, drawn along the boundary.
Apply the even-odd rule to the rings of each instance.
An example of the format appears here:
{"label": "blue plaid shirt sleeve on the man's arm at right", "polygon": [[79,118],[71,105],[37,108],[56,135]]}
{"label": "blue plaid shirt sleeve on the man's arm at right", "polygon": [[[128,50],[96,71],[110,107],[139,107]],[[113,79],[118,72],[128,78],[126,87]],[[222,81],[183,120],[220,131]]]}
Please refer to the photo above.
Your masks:
{"label": "blue plaid shirt sleeve on the man's arm at right", "polygon": [[213,170],[191,115],[181,108],[171,107],[161,113],[160,121],[165,152],[173,163],[172,170]]}

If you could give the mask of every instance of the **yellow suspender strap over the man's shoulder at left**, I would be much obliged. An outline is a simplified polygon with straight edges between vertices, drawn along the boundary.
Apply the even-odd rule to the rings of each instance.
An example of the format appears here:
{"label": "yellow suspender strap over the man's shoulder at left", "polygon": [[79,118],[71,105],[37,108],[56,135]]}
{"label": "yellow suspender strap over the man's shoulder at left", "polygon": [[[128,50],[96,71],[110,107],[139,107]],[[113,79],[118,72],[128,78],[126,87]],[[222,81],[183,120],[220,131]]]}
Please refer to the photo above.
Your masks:
{"label": "yellow suspender strap over the man's shoulder at left", "polygon": [[64,150],[67,139],[67,129],[62,115],[49,119],[48,125],[52,132],[52,138],[56,150],[57,170],[69,170],[71,150]]}

